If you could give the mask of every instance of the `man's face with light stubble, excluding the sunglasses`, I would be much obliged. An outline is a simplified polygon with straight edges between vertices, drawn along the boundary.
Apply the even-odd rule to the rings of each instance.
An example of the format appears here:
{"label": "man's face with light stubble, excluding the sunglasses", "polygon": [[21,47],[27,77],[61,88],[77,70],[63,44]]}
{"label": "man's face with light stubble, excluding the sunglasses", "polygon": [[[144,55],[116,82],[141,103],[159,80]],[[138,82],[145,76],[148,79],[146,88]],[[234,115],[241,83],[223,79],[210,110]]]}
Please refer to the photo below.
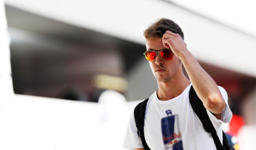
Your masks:
{"label": "man's face with light stubble, excluding the sunglasses", "polygon": [[[166,49],[162,43],[162,38],[148,38],[146,40],[147,50],[162,50]],[[180,60],[174,55],[171,60],[165,60],[157,54],[157,57],[153,61],[149,61],[151,70],[158,82],[166,82],[171,79],[175,79],[176,72],[181,69]]]}

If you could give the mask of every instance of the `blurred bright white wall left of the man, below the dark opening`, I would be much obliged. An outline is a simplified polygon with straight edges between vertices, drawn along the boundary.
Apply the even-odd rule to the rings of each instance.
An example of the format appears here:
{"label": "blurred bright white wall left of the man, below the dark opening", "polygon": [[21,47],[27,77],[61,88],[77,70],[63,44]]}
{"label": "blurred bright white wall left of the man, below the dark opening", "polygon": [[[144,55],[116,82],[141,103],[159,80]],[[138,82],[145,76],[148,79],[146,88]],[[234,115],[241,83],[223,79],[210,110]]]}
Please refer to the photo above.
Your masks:
{"label": "blurred bright white wall left of the man, below the dark opening", "polygon": [[128,118],[139,101],[127,103],[113,91],[103,93],[100,103],[14,94],[2,0],[0,33],[0,150],[122,149]]}

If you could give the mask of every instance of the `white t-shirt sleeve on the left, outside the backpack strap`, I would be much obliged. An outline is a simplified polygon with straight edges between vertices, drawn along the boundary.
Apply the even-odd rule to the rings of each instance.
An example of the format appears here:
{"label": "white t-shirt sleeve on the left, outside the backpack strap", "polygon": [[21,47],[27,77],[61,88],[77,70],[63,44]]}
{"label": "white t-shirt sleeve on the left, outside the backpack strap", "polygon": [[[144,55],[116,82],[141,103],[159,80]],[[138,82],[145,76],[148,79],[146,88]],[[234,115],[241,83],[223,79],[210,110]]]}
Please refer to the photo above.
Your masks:
{"label": "white t-shirt sleeve on the left, outside the backpack strap", "polygon": [[143,148],[142,141],[137,134],[136,123],[133,112],[127,125],[126,134],[123,141],[124,148]]}

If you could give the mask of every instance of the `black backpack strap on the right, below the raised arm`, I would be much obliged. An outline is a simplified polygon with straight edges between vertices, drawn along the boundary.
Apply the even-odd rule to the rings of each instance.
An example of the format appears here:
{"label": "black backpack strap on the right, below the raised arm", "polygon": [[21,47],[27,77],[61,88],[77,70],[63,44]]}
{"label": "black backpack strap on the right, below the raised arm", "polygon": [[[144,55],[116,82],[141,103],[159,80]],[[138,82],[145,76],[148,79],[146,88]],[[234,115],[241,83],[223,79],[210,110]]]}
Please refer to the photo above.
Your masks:
{"label": "black backpack strap on the right, below the raised arm", "polygon": [[[222,146],[222,143],[219,140],[219,137],[216,134],[216,130],[213,127],[213,123],[210,121],[210,118],[206,112],[206,108],[203,106],[203,102],[197,96],[192,85],[190,88],[189,99],[194,112],[197,114],[198,118],[203,123],[203,128],[207,132],[210,132],[212,134],[213,141],[216,145],[217,150],[225,150],[225,148]],[[223,134],[223,139],[226,139],[225,134]]]}

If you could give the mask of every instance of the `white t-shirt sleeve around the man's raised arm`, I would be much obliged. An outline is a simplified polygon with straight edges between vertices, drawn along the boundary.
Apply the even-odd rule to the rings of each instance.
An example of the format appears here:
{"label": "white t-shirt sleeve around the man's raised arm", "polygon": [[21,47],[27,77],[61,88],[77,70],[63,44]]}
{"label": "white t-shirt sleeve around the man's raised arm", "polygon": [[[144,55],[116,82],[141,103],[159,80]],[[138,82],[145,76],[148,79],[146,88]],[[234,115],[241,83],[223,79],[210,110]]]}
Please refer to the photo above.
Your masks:
{"label": "white t-shirt sleeve around the man's raised arm", "polygon": [[210,113],[210,111],[207,110],[208,116],[210,117],[211,120],[215,120],[217,123],[229,123],[232,119],[232,112],[229,108],[229,104],[228,104],[228,94],[226,93],[226,90],[223,87],[219,87],[219,90],[222,94],[222,97],[225,100],[226,106],[222,112],[222,119],[218,120],[215,116],[213,116],[212,113]]}

